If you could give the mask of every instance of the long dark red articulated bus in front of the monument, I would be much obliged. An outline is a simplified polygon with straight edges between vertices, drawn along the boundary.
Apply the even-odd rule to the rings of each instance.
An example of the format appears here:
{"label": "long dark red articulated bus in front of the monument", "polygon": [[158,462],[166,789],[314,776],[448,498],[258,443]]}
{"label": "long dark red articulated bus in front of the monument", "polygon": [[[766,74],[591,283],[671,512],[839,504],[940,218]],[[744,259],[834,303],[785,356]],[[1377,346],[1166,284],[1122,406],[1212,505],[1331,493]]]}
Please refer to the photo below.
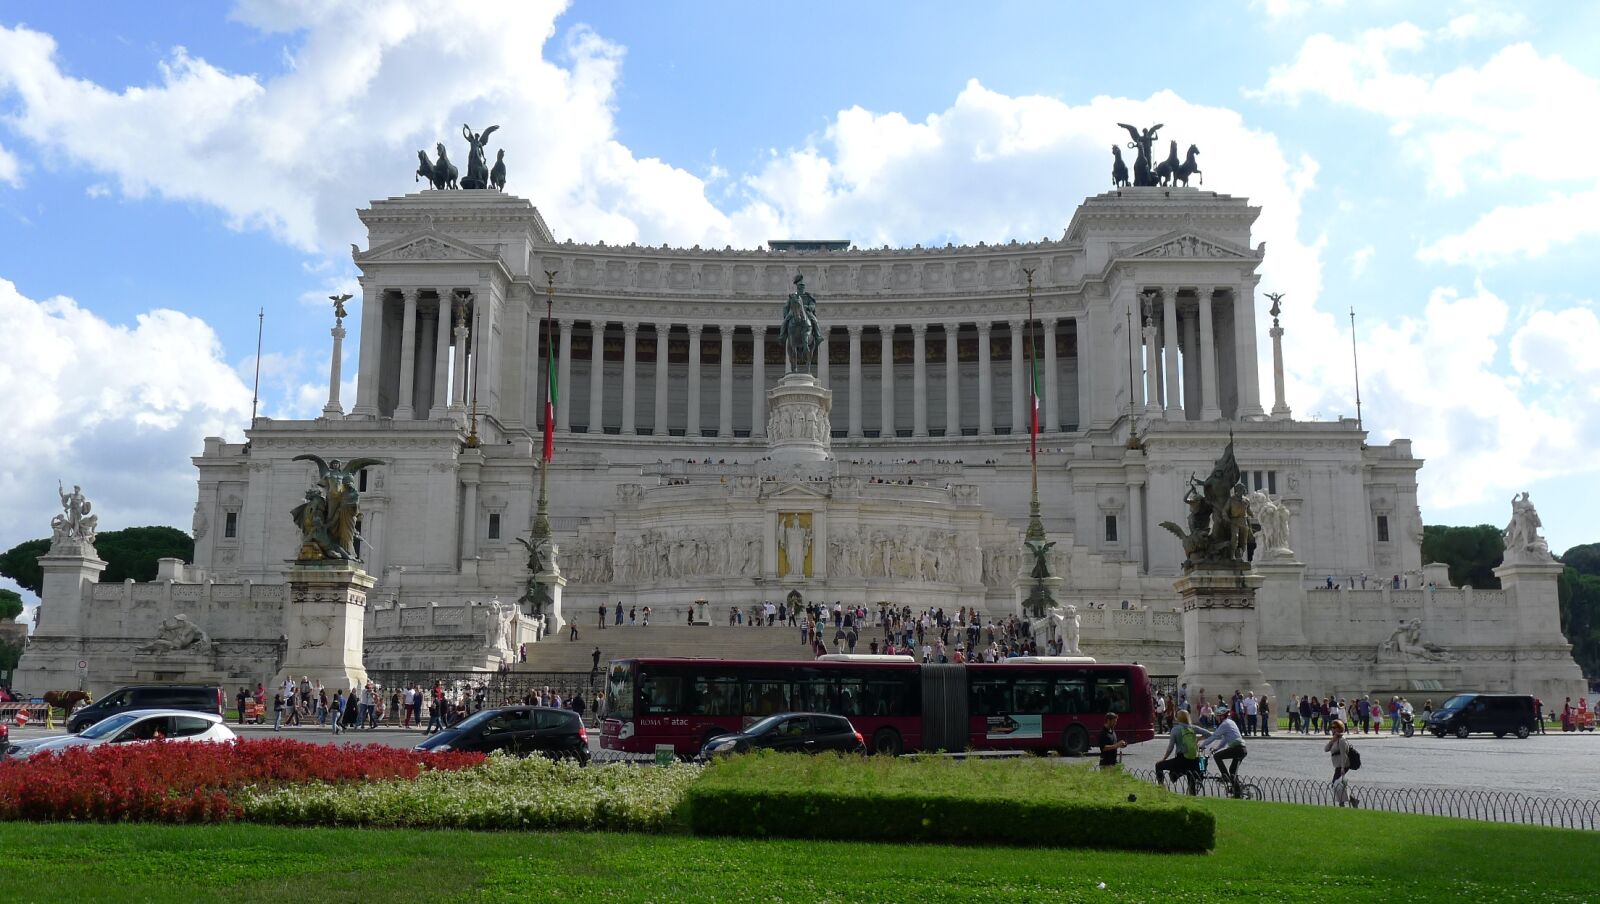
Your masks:
{"label": "long dark red articulated bus in front of the monument", "polygon": [[614,659],[600,747],[699,754],[715,734],[774,712],[845,715],[878,754],[1035,750],[1082,755],[1107,712],[1118,738],[1155,736],[1144,666],[1029,656],[920,664],[910,656],[824,656],[798,662]]}

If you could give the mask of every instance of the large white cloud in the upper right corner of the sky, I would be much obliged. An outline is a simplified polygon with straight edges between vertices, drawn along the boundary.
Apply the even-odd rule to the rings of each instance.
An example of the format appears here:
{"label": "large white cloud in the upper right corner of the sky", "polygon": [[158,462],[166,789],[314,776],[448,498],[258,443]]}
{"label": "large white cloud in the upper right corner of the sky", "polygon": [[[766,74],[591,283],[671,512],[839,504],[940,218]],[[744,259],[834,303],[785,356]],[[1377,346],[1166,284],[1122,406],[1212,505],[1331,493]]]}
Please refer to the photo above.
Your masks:
{"label": "large white cloud in the upper right corner of the sky", "polygon": [[1354,42],[1312,35],[1294,61],[1272,67],[1254,96],[1301,102],[1323,98],[1384,117],[1408,160],[1445,195],[1469,182],[1592,181],[1568,149],[1600,144],[1600,80],[1528,43],[1501,48],[1482,66],[1434,75],[1402,56],[1429,46],[1411,22],[1363,32]]}

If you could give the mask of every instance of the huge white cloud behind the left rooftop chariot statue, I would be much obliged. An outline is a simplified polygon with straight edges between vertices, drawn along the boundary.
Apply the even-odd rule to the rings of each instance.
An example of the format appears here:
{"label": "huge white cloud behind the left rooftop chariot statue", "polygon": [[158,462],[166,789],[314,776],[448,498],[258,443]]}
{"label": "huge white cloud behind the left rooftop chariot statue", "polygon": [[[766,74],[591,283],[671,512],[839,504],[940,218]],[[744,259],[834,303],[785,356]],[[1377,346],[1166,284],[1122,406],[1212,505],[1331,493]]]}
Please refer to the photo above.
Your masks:
{"label": "huge white cloud behind the left rooftop chariot statue", "polygon": [[733,240],[699,178],[613,139],[622,51],[581,27],[549,46],[560,11],[253,2],[235,18],[296,42],[285,72],[227,72],[174,48],[154,83],[128,88],[74,77],[50,35],[19,26],[0,29],[0,98],[42,158],[104,173],[128,197],[214,206],[234,227],[330,256],[363,238],[354,208],[413,189],[416,149],[443,141],[464,166],[462,122],[501,123],[509,187],[534,195],[566,235]]}

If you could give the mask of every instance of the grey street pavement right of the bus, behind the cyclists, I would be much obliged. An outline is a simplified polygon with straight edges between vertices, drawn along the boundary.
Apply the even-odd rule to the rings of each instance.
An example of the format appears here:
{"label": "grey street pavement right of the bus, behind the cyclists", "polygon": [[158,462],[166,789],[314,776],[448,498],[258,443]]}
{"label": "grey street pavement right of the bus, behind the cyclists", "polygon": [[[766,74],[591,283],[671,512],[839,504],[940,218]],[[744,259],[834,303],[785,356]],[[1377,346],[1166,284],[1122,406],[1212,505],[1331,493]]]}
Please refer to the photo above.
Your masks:
{"label": "grey street pavement right of the bus, behind the cyclists", "polygon": [[[1362,770],[1350,781],[1387,787],[1451,787],[1514,790],[1547,797],[1600,798],[1600,733],[1515,736],[1474,734],[1466,741],[1384,734],[1350,734],[1362,750]],[[1328,738],[1286,736],[1246,738],[1250,755],[1240,776],[1275,776],[1330,781],[1333,765],[1323,744]],[[1123,766],[1150,770],[1166,750],[1166,738],[1134,744],[1123,754]]]}

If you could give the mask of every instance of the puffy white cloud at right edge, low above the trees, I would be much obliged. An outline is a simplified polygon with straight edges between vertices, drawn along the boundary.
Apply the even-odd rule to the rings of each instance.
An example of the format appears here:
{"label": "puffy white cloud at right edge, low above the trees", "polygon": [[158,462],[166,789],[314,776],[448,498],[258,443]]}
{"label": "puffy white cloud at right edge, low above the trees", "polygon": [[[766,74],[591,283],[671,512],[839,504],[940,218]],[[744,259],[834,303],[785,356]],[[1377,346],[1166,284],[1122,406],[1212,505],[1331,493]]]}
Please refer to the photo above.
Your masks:
{"label": "puffy white cloud at right edge, low above the trees", "polygon": [[1597,341],[1587,307],[1514,315],[1483,285],[1437,288],[1421,317],[1363,325],[1366,427],[1376,442],[1414,440],[1427,459],[1424,510],[1600,472],[1600,390],[1584,344]]}

